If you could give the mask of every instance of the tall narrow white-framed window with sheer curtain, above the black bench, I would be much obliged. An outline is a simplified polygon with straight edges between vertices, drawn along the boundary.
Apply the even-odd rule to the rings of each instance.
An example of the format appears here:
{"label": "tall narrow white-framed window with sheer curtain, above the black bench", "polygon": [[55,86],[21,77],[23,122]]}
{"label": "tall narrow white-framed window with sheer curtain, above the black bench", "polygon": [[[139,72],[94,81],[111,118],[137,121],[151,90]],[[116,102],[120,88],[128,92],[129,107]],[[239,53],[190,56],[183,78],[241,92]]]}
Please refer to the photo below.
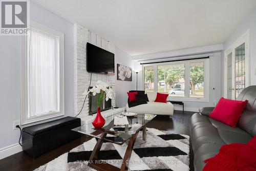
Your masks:
{"label": "tall narrow white-framed window with sheer curtain, above the black bench", "polygon": [[32,22],[22,43],[22,124],[64,115],[63,34]]}

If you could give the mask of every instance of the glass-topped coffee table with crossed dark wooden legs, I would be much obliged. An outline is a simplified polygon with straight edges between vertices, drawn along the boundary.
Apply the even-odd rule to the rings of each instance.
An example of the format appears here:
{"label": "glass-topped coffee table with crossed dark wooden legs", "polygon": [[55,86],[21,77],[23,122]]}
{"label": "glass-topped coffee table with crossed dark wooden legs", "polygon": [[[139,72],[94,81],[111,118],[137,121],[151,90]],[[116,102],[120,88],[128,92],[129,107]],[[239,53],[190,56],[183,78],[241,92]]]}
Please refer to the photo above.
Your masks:
{"label": "glass-topped coffee table with crossed dark wooden legs", "polygon": [[[131,154],[133,152],[133,147],[135,140],[138,136],[140,130],[142,130],[142,140],[138,140],[140,143],[146,142],[146,124],[150,122],[156,115],[150,114],[136,114],[133,116],[127,116],[127,120],[129,124],[125,125],[115,125],[114,119],[110,119],[106,117],[106,123],[101,129],[86,129],[85,126],[79,126],[73,129],[72,131],[85,134],[91,137],[97,138],[97,143],[93,149],[93,152],[90,157],[90,161],[88,162],[88,166],[96,169],[96,170],[127,170],[129,165],[129,160],[131,158]],[[112,116],[113,117],[113,116]],[[123,117],[123,114],[118,114],[115,117]],[[113,166],[108,163],[97,162],[98,153],[104,141],[112,142],[118,145],[122,145],[126,141],[127,148],[123,157],[123,162],[121,168]]]}

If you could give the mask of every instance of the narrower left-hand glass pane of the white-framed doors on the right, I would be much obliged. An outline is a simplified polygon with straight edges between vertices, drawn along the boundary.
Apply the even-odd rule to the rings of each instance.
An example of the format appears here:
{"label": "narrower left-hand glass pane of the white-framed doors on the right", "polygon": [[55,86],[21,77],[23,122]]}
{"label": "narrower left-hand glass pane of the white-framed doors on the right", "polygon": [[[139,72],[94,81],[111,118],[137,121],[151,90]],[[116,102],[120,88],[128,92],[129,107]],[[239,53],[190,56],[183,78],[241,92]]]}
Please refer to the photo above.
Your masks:
{"label": "narrower left-hand glass pane of the white-framed doors on the right", "polygon": [[232,52],[227,55],[227,98],[232,99]]}

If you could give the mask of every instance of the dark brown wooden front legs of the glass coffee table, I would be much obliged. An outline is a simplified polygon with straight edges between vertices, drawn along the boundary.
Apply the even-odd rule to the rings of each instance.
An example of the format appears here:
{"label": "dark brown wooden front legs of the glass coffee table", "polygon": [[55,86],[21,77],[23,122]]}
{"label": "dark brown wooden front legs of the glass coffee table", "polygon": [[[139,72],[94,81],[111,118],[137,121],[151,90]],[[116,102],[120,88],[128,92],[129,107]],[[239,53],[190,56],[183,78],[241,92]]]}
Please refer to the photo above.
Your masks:
{"label": "dark brown wooden front legs of the glass coffee table", "polygon": [[[102,138],[105,138],[106,134],[107,133],[102,133]],[[128,170],[129,160],[131,158],[131,155],[132,155],[132,152],[133,152],[134,143],[135,143],[135,140],[136,140],[138,134],[139,134],[139,131],[136,132],[131,137],[130,142],[127,145],[126,152],[125,152],[124,157],[123,157],[123,162],[122,162],[121,168],[118,168],[118,167],[113,166],[113,165],[108,164],[108,163],[95,162],[98,159],[98,153],[99,153],[100,148],[102,146],[102,143],[104,141],[102,139],[98,139],[98,141],[97,141],[97,143],[96,143],[96,145],[95,145],[95,147],[93,149],[93,152],[91,154],[90,162],[88,163],[88,166],[90,166],[90,167],[92,167],[92,168],[94,168],[96,170],[100,170],[100,171],[107,171],[107,170],[111,170],[111,171],[117,171],[117,170],[124,171],[124,170]]]}

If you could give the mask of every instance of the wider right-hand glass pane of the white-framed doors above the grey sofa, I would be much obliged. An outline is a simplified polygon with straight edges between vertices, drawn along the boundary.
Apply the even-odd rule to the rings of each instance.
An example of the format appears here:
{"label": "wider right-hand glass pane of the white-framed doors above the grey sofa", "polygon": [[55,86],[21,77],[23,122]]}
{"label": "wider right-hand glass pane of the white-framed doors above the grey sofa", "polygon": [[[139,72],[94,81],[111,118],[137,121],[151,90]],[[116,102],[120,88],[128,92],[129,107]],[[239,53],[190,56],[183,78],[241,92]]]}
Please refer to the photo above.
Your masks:
{"label": "wider right-hand glass pane of the white-framed doors above the grey sofa", "polygon": [[235,49],[236,98],[245,89],[245,43]]}

